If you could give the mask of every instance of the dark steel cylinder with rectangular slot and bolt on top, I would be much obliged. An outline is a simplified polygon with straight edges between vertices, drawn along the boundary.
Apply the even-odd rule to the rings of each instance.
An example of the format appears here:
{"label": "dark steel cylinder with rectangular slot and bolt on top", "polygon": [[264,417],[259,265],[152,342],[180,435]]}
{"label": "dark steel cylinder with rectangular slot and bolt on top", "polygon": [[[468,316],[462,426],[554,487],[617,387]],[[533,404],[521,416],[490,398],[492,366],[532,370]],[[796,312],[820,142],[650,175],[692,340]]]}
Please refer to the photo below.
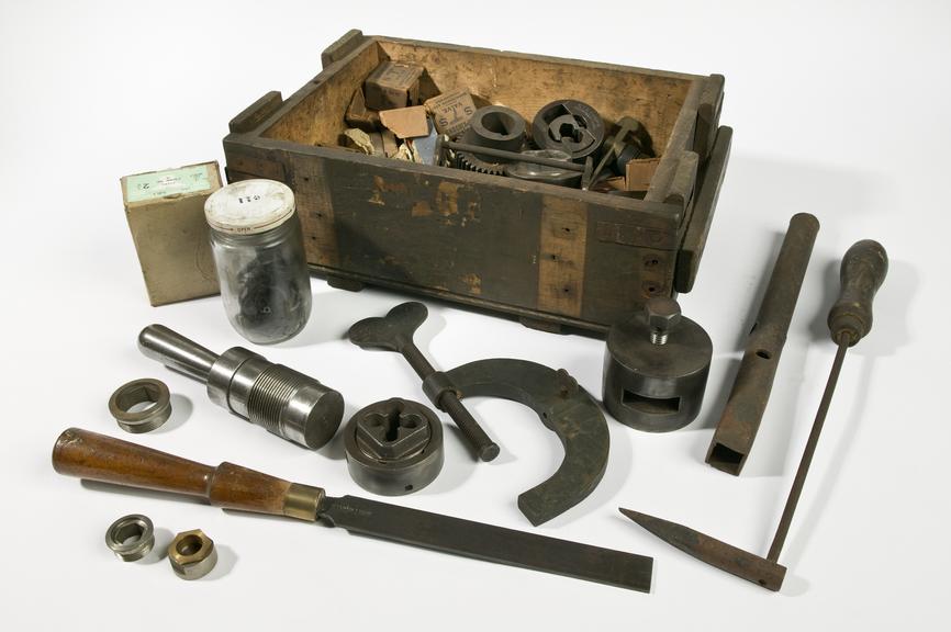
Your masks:
{"label": "dark steel cylinder with rectangular slot and bolt on top", "polygon": [[683,428],[700,413],[712,358],[706,331],[673,298],[653,297],[607,335],[604,406],[638,430]]}

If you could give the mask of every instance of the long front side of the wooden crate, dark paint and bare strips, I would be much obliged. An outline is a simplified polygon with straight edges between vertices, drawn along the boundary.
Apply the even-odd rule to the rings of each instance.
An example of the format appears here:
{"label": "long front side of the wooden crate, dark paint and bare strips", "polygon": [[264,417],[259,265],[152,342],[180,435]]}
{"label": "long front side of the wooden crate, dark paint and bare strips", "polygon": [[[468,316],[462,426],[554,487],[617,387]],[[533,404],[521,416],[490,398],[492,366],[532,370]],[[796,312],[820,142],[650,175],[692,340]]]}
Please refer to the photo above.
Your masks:
{"label": "long front side of the wooden crate, dark paint and bare strips", "polygon": [[675,210],[255,143],[225,140],[228,171],[287,174],[309,262],[325,274],[588,329],[672,286]]}

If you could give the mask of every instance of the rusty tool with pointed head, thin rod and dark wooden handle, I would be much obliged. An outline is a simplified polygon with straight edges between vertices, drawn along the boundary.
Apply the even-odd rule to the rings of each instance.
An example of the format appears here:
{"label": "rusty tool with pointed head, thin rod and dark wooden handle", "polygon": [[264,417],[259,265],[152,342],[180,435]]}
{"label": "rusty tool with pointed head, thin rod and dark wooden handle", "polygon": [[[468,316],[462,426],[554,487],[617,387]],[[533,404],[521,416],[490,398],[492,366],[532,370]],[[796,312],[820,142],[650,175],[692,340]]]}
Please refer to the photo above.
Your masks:
{"label": "rusty tool with pointed head, thin rod and dark wooden handle", "polygon": [[779,590],[786,575],[785,566],[779,564],[780,552],[786,541],[793,514],[806,483],[806,475],[819,442],[826,414],[832,402],[832,394],[836,391],[839,372],[846,359],[846,351],[861,340],[872,328],[872,301],[887,271],[888,256],[877,241],[869,239],[859,241],[849,248],[842,259],[840,274],[842,290],[839,300],[829,312],[828,318],[829,332],[832,341],[839,346],[839,350],[832,362],[829,381],[826,384],[825,393],[823,393],[823,399],[806,441],[799,467],[796,470],[796,476],[793,479],[782,518],[780,518],[776,534],[765,557],[737,549],[683,524],[630,509],[620,509],[620,512],[661,540],[712,566],[732,573],[770,590]]}

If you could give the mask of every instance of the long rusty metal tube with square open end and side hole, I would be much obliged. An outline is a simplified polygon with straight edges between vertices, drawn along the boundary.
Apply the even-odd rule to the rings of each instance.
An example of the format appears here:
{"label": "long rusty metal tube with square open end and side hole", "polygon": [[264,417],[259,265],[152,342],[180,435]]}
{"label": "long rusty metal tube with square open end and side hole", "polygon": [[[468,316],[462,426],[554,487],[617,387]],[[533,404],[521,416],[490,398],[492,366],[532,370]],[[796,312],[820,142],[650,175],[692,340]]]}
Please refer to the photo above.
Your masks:
{"label": "long rusty metal tube with square open end and side hole", "polygon": [[797,213],[790,219],[742,363],[706,454],[707,463],[728,474],[738,476],[742,472],[756,441],[818,232],[819,221],[814,215]]}

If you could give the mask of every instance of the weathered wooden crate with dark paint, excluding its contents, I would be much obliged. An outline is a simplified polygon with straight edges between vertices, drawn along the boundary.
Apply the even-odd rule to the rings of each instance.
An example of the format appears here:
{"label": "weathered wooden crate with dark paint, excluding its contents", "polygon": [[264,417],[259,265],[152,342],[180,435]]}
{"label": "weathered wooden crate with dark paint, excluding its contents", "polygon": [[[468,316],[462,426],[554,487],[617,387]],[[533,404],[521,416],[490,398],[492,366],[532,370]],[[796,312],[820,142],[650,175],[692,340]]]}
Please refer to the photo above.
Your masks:
{"label": "weathered wooden crate with dark paint, excluding its contents", "polygon": [[[641,121],[662,151],[644,200],[365,156],[337,147],[354,91],[384,59],[424,66],[529,122],[580,99]],[[350,31],[287,101],[231,122],[228,181],[290,185],[307,259],[336,286],[374,284],[603,332],[649,296],[690,291],[729,156],[721,76],[594,64]]]}

